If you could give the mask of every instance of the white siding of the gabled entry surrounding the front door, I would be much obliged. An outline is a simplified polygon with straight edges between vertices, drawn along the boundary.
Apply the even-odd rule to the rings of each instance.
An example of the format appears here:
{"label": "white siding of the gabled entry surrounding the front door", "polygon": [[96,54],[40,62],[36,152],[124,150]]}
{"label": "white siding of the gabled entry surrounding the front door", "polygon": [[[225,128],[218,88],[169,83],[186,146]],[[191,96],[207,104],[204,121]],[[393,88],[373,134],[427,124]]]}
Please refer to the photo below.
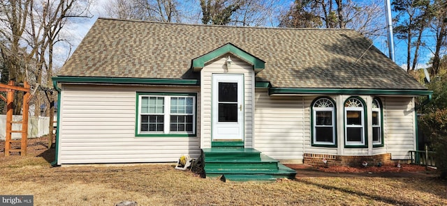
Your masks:
{"label": "white siding of the gabled entry surrounding the front door", "polygon": [[[231,56],[231,55],[230,55]],[[226,69],[228,54],[205,63],[200,71],[200,102],[202,125],[200,148],[211,148],[212,141],[212,74],[244,74],[244,144],[246,148],[253,148],[253,93],[254,93],[254,70],[253,66],[241,61],[236,56],[231,56],[231,68]]]}

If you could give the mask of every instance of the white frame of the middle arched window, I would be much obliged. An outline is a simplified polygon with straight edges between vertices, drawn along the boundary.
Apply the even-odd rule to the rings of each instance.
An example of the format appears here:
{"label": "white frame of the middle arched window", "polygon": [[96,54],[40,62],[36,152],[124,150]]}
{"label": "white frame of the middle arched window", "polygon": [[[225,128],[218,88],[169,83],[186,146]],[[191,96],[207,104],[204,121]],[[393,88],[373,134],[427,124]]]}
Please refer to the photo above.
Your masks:
{"label": "white frame of the middle arched window", "polygon": [[[358,106],[346,106],[346,102],[349,100],[357,100],[362,104],[362,107]],[[346,145],[365,145],[365,105],[357,97],[350,97],[344,104],[344,141]],[[360,125],[348,125],[348,111],[360,111]],[[348,128],[361,128],[361,140],[360,141],[348,141]]]}

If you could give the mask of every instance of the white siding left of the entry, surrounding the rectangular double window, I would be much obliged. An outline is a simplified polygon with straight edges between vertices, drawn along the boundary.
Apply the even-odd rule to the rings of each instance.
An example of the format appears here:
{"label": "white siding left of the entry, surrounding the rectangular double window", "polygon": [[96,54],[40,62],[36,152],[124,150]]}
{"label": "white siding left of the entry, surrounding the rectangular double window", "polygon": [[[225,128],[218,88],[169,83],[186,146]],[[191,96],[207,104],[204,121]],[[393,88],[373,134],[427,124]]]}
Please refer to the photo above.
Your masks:
{"label": "white siding left of the entry, surrounding the rectangular double window", "polygon": [[172,162],[182,154],[200,155],[200,134],[135,137],[137,91],[198,93],[198,87],[63,84],[61,90],[58,164]]}

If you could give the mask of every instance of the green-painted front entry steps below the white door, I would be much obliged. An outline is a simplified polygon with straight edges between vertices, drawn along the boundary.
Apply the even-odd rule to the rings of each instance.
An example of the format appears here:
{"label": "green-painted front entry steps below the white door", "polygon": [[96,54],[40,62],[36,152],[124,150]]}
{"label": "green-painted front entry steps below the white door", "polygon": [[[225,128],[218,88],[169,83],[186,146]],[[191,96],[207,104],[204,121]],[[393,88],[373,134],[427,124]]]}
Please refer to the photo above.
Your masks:
{"label": "green-painted front entry steps below the white door", "polygon": [[251,148],[205,148],[205,177],[230,181],[294,179],[296,171]]}

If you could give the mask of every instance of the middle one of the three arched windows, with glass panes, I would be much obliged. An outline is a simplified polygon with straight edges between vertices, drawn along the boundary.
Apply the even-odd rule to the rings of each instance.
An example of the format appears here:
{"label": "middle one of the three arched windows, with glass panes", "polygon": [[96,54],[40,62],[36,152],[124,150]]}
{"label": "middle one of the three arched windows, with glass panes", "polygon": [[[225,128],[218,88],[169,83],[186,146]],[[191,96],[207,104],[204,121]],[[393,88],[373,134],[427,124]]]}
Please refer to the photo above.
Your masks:
{"label": "middle one of the three arched windows, with glass panes", "polygon": [[344,102],[345,143],[346,145],[366,145],[365,106],[357,97]]}

